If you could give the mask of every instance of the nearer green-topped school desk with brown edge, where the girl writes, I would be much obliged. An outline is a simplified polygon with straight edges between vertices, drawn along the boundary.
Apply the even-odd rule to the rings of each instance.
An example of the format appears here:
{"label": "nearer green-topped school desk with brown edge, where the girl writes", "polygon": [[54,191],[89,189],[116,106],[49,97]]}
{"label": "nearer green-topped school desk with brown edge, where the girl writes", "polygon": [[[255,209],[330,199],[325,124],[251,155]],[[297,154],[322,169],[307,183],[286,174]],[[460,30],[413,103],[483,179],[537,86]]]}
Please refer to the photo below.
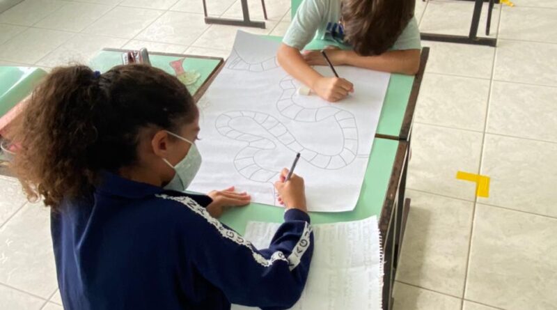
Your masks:
{"label": "nearer green-topped school desk with brown edge, where the girl writes", "polygon": [[[391,309],[391,290],[395,279],[398,242],[397,231],[400,178],[405,169],[408,144],[406,141],[375,138],[371,150],[366,175],[363,179],[361,194],[356,208],[349,212],[310,212],[313,224],[356,221],[377,216],[379,232],[385,258],[383,309]],[[310,183],[311,180],[306,180]],[[224,213],[221,222],[244,233],[249,221],[283,222],[284,209],[259,203],[233,208]],[[402,237],[402,236],[401,236]]]}

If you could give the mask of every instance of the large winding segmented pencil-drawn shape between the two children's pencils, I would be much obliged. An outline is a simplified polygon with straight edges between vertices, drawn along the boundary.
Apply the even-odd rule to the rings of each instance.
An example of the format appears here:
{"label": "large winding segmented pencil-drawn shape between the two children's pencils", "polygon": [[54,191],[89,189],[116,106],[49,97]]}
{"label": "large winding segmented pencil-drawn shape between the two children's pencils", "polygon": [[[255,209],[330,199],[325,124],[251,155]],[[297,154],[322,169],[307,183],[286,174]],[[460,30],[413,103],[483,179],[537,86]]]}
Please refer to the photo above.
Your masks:
{"label": "large winding segmented pencil-drawn shape between the two children's pencils", "polygon": [[[247,143],[234,157],[233,163],[236,171],[244,178],[260,183],[269,183],[278,177],[279,171],[262,166],[256,160],[256,155],[259,152],[277,148],[274,141],[264,137],[267,134],[274,137],[278,143],[292,150],[293,153],[300,153],[303,160],[316,168],[336,170],[351,164],[358,154],[358,129],[354,115],[327,103],[320,107],[304,107],[304,104],[297,102],[295,97],[296,86],[292,77],[282,79],[280,87],[282,93],[276,101],[278,113],[292,121],[303,123],[317,124],[332,118],[343,135],[343,145],[338,148],[340,151],[329,155],[320,152],[320,150],[303,146],[281,121],[270,114],[259,111],[229,111],[217,117],[215,127],[223,136]],[[235,129],[233,121],[237,118],[250,118],[259,125],[263,132],[258,134]]]}

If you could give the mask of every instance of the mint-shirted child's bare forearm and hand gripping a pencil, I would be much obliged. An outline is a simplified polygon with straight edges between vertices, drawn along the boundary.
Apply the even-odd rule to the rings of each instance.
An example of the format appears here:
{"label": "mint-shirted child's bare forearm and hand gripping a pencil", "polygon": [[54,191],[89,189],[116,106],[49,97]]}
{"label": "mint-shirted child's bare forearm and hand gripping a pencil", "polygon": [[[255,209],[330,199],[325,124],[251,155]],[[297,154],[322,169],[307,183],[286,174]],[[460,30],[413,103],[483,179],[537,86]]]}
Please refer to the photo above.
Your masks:
{"label": "mint-shirted child's bare forearm and hand gripping a pencil", "polygon": [[[320,56],[323,58],[321,54]],[[283,43],[278,48],[276,59],[288,74],[306,84],[324,100],[336,102],[354,91],[354,85],[346,79],[320,75],[304,61],[304,57],[296,47]]]}

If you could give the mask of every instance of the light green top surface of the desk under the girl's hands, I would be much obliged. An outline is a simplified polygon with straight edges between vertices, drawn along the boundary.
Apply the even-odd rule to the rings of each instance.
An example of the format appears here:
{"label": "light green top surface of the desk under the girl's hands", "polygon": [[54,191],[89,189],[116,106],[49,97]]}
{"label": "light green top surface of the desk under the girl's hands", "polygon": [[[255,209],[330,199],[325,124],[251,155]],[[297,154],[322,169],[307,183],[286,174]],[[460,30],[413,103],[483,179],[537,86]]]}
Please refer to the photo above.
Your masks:
{"label": "light green top surface of the desk under the girl's hands", "polygon": [[[349,222],[365,219],[372,215],[377,215],[379,219],[389,187],[398,144],[399,142],[395,140],[375,138],[356,208],[350,212],[310,212],[311,222],[313,224]],[[310,181],[306,180],[306,183],[308,182]],[[250,203],[249,206],[229,210],[221,217],[221,222],[243,234],[247,222],[281,223],[283,214],[283,208]]]}

